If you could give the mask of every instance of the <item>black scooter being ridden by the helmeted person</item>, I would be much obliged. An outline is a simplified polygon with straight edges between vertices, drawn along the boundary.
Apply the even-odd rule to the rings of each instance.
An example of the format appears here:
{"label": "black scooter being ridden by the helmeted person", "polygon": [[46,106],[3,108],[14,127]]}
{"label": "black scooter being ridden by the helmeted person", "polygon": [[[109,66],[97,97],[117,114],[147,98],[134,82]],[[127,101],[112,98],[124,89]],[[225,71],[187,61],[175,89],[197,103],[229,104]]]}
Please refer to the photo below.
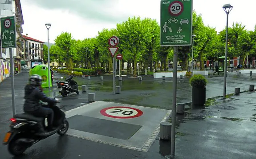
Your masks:
{"label": "black scooter being ridden by the helmeted person", "polygon": [[56,127],[47,131],[45,117],[36,117],[31,114],[22,113],[14,115],[10,120],[10,128],[4,137],[3,144],[8,145],[8,151],[12,155],[21,155],[28,147],[43,140],[55,133],[65,135],[69,129],[69,122],[63,112],[56,104],[50,105],[53,109],[53,126]]}

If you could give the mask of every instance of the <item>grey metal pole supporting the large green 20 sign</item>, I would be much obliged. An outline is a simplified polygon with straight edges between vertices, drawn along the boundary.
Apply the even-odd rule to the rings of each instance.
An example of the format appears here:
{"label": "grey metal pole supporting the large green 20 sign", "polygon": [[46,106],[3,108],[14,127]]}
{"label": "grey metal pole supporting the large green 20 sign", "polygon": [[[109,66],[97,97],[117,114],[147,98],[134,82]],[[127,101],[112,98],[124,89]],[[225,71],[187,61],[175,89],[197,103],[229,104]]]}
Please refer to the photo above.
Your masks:
{"label": "grey metal pole supporting the large green 20 sign", "polygon": [[173,56],[173,93],[172,93],[172,115],[171,115],[171,158],[175,157],[175,134],[176,134],[176,96],[177,96],[177,61],[178,47],[174,47]]}

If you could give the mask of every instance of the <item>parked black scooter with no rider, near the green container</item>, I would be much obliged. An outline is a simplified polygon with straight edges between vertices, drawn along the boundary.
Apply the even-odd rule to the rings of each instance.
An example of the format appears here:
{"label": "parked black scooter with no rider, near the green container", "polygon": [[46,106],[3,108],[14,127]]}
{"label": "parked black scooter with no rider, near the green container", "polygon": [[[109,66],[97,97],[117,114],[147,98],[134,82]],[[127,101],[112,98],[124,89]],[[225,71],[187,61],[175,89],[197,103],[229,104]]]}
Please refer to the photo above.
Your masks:
{"label": "parked black scooter with no rider, near the green container", "polygon": [[[71,73],[73,74],[74,71]],[[59,88],[59,93],[61,93],[62,97],[67,97],[68,94],[70,93],[77,93],[79,94],[78,91],[78,84],[76,81],[73,80],[74,75],[72,75],[69,78],[66,78],[65,81],[57,81],[57,86]],[[61,77],[63,79],[63,77]]]}

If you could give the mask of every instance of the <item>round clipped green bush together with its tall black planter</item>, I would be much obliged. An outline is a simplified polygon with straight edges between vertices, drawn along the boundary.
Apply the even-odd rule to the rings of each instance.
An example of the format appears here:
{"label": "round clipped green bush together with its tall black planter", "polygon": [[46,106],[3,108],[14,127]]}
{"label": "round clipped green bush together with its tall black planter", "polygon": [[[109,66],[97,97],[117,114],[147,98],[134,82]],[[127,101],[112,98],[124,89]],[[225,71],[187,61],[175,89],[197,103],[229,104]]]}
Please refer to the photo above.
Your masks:
{"label": "round clipped green bush together with its tall black planter", "polygon": [[195,74],[189,82],[192,86],[192,104],[204,105],[206,101],[206,78],[201,74]]}

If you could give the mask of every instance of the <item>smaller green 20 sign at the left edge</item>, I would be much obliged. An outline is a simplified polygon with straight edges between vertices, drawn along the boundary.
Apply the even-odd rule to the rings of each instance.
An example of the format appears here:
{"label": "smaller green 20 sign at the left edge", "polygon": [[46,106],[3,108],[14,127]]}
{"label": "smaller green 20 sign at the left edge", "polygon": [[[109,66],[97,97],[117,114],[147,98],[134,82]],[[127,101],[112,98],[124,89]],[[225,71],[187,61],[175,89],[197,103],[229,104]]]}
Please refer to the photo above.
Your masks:
{"label": "smaller green 20 sign at the left edge", "polygon": [[1,44],[2,48],[16,48],[16,17],[8,16],[1,21]]}

